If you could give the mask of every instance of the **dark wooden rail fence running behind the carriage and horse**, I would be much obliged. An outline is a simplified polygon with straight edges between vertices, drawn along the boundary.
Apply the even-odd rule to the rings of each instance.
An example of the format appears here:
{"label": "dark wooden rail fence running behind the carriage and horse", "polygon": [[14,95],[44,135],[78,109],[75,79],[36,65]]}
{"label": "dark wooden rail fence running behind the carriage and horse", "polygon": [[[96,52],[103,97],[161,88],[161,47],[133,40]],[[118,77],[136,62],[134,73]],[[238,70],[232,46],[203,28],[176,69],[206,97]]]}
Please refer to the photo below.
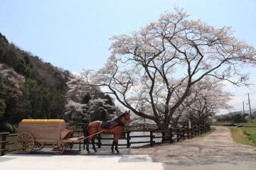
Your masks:
{"label": "dark wooden rail fence running behind the carriage and horse", "polygon": [[[82,127],[81,124],[76,125],[72,128],[74,130],[74,136],[82,136]],[[124,140],[122,142],[123,144],[119,144],[119,146],[123,147],[132,147],[134,144],[144,144],[144,145],[150,145],[153,147],[156,144],[159,143],[173,143],[178,142],[181,140],[191,139],[192,137],[196,137],[198,135],[202,135],[205,132],[208,132],[210,130],[210,125],[195,125],[193,128],[189,129],[186,127],[183,128],[171,128],[170,130],[125,130],[122,132],[122,136],[120,137],[120,140]],[[132,132],[147,132],[149,135],[132,135]],[[156,135],[158,134],[158,135]],[[12,145],[11,148],[14,148],[15,142],[11,142],[7,140],[7,137],[14,137],[18,134],[10,134],[9,132],[1,132],[0,133],[0,156],[3,156],[6,153],[14,152],[15,149],[9,149],[7,146]],[[164,137],[163,137],[164,135]],[[148,138],[147,141],[137,141],[132,142],[132,138]],[[161,140],[160,142],[156,142],[156,139],[161,138],[164,140]],[[111,144],[104,144],[102,141],[104,140],[113,140],[112,137],[102,137],[102,135],[97,135],[97,141],[95,144],[98,147],[102,146],[110,146]],[[85,149],[85,141],[83,142],[76,142],[74,144],[79,145],[79,151],[81,150],[81,147]]]}

